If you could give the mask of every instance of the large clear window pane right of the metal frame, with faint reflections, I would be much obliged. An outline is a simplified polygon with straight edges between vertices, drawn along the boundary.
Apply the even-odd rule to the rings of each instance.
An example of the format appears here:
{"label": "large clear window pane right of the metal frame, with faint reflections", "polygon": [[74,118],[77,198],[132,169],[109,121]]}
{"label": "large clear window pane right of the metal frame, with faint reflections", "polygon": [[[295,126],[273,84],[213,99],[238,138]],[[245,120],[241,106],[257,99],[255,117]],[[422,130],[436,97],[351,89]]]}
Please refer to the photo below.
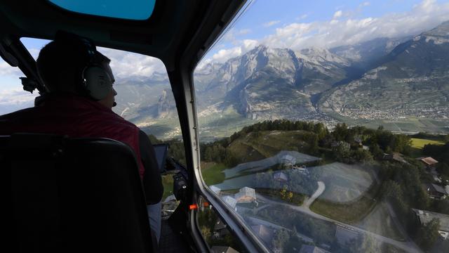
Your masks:
{"label": "large clear window pane right of the metal frame, with faint reflections", "polygon": [[448,6],[257,1],[196,67],[204,182],[268,249],[449,251]]}

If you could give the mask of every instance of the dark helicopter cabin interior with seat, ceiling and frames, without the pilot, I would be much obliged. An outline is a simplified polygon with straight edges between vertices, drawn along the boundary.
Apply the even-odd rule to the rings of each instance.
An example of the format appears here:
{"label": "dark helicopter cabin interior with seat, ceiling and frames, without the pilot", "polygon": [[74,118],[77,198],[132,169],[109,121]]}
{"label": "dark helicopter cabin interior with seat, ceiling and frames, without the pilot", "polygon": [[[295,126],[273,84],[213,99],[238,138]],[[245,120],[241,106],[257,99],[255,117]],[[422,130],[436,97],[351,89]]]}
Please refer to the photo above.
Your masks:
{"label": "dark helicopter cabin interior with seat, ceiling and frames, without the pilot", "polygon": [[[11,237],[9,247],[4,248],[11,252],[207,252],[210,249],[200,235],[194,207],[199,205],[199,195],[208,196],[210,205],[217,200],[203,187],[196,171],[199,140],[192,71],[245,1],[149,1],[152,12],[142,14],[143,18],[80,13],[58,2],[64,4],[3,1],[1,57],[26,75],[22,79],[25,91],[39,94],[47,92],[46,86],[22,37],[52,40],[63,30],[88,37],[97,46],[159,58],[168,72],[186,147],[185,164],[173,159],[167,162],[177,171],[174,190],[180,205],[163,222],[156,249],[152,237],[146,236],[145,193],[135,174],[133,151],[126,145],[33,133],[1,136],[1,167],[10,168],[7,176],[11,176],[12,191],[8,202],[11,226],[5,228]],[[120,3],[111,5],[117,8]],[[115,13],[126,13],[126,8]],[[161,169],[168,167],[164,166],[168,145],[155,145],[155,149]],[[220,212],[228,216],[227,222],[237,224],[226,207]],[[235,228],[236,233],[245,234],[244,228]],[[248,244],[248,250],[257,249],[255,242]]]}

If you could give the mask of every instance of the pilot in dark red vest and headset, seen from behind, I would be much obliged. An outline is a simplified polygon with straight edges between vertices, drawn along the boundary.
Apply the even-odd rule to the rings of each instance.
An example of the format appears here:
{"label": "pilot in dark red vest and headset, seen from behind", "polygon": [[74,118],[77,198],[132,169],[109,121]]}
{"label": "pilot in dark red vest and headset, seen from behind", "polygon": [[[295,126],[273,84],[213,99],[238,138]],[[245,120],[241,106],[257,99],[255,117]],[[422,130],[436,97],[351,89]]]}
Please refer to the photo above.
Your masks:
{"label": "pilot in dark red vest and headset, seen from behind", "polygon": [[58,32],[36,60],[50,92],[36,98],[34,108],[0,116],[0,134],[111,138],[129,145],[138,158],[149,223],[159,242],[163,186],[154,148],[144,132],[112,111],[117,93],[109,62],[90,39]]}

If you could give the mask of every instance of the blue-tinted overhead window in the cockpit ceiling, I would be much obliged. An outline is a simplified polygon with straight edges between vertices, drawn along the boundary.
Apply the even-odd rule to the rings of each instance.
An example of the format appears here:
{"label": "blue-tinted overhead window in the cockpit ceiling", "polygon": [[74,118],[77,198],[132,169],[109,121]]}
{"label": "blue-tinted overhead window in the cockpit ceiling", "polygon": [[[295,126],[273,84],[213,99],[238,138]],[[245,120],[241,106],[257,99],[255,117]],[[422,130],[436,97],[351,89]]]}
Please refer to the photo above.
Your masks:
{"label": "blue-tinted overhead window in the cockpit ceiling", "polygon": [[128,20],[147,20],[151,17],[156,2],[156,0],[48,1],[67,11]]}

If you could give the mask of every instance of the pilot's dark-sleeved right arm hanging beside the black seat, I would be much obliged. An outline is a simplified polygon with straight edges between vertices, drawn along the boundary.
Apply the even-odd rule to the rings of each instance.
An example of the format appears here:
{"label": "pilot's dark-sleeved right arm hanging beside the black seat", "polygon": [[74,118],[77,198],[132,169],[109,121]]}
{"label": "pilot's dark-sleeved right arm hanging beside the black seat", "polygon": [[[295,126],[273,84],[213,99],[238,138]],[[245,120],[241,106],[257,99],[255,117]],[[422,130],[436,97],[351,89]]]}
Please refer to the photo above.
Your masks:
{"label": "pilot's dark-sleeved right arm hanging beside the black seat", "polygon": [[140,158],[145,168],[143,186],[147,204],[156,204],[161,202],[163,195],[161,173],[156,162],[156,153],[154,153],[153,145],[149,141],[147,134],[142,130],[139,131],[139,148]]}

